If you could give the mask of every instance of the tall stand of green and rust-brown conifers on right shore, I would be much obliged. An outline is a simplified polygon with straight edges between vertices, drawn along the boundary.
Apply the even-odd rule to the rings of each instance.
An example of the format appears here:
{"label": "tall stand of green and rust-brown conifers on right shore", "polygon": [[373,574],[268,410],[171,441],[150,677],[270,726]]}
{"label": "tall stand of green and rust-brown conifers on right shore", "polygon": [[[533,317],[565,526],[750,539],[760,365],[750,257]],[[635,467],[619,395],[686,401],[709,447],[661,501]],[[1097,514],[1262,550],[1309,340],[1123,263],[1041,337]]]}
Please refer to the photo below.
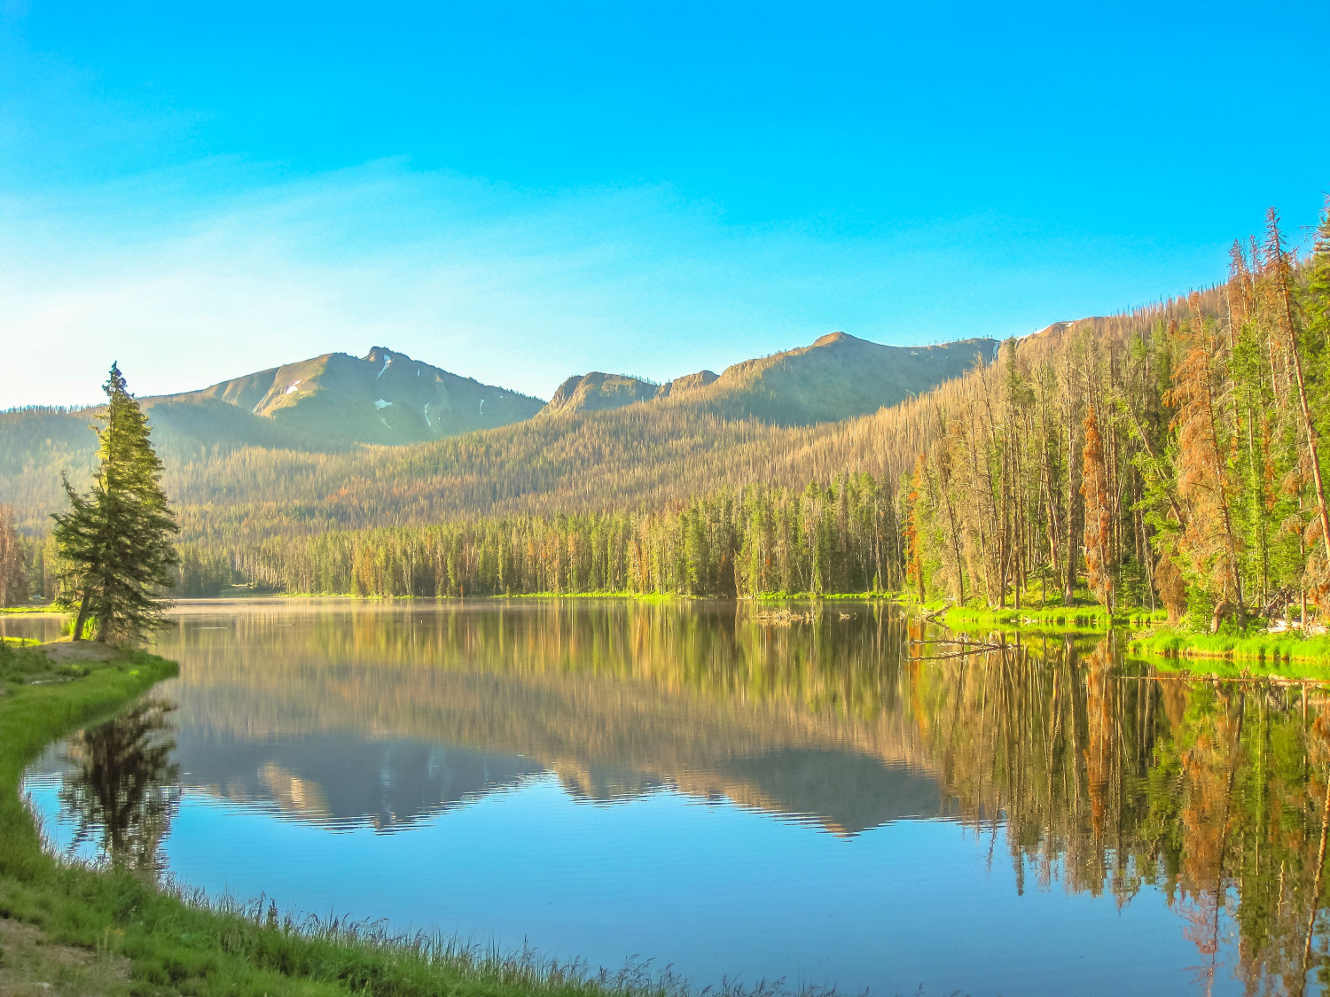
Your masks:
{"label": "tall stand of green and rust-brown conifers on right shore", "polygon": [[1301,263],[1266,221],[1209,300],[1008,343],[967,379],[908,476],[912,590],[1019,608],[1084,580],[1212,629],[1323,600],[1330,209]]}

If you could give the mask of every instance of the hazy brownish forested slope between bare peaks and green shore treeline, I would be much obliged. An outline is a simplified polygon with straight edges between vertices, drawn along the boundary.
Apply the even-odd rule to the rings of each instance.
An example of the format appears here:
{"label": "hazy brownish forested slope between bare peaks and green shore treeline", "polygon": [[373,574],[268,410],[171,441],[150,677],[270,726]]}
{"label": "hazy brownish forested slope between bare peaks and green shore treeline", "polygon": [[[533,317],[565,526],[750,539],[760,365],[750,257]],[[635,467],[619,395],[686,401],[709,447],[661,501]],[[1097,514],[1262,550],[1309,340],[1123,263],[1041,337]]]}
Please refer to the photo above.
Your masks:
{"label": "hazy brownish forested slope between bare peaks and green shore treeline", "polygon": [[[1202,296],[1206,314],[1217,307],[1214,295]],[[1185,312],[1185,303],[1170,302],[1077,328],[1124,339]],[[1019,355],[1029,342],[1017,346]],[[213,552],[238,552],[270,536],[471,517],[660,510],[753,483],[802,489],[846,473],[898,483],[976,376],[946,382],[872,415],[817,425],[726,419],[666,400],[400,447],[189,447],[168,435],[158,451],[181,538]],[[837,384],[829,379],[823,389],[837,391]],[[86,420],[0,412],[0,502],[15,506],[20,532],[36,537],[49,528],[49,513],[64,501],[61,471],[76,487],[86,479],[89,439]]]}

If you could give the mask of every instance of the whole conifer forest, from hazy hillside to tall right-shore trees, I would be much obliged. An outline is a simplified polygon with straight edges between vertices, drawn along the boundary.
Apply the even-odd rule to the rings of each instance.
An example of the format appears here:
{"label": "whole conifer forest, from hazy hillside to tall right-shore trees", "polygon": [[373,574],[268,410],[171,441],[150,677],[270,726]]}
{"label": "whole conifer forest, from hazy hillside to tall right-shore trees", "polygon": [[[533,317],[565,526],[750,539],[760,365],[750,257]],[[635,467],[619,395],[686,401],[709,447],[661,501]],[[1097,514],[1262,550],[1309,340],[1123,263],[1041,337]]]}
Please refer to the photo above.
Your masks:
{"label": "whole conifer forest, from hazy hillside to tall right-shore trees", "polygon": [[[1330,592],[1330,211],[1303,259],[1266,222],[1221,286],[1009,340],[870,416],[634,405],[416,447],[194,455],[207,487],[178,487],[209,501],[181,510],[178,590],[1020,608],[1088,589],[1206,626],[1301,618]],[[28,561],[44,584],[40,545]]]}

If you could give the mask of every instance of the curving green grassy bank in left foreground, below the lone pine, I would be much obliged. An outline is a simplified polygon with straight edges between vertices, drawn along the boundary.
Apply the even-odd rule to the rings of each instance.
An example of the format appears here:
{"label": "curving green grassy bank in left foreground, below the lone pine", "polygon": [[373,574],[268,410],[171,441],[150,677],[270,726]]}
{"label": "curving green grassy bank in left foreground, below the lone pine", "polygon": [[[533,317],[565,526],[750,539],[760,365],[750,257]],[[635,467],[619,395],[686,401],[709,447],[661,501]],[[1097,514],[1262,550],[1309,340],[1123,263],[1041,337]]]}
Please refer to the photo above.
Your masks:
{"label": "curving green grassy bank in left foreground, below the lone pine", "polygon": [[[134,994],[674,994],[668,976],[629,968],[505,957],[431,937],[395,939],[342,923],[294,923],[249,907],[210,905],[141,873],[61,863],[19,799],[27,764],[52,740],[110,715],[176,665],[144,653],[60,666],[40,647],[0,645],[0,916],[36,925],[48,944],[128,960]],[[37,683],[37,685],[35,685]]]}

